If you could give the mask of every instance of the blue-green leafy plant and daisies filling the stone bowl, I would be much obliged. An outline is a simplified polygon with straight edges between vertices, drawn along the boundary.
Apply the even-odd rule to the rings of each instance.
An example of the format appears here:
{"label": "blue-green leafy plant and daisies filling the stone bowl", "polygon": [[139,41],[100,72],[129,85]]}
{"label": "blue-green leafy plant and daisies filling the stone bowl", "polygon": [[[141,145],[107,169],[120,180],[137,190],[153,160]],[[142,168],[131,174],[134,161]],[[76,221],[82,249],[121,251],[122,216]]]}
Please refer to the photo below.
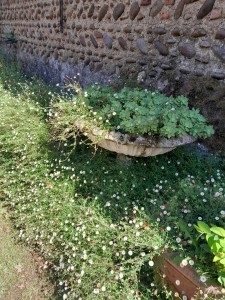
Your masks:
{"label": "blue-green leafy plant and daisies filling the stone bowl", "polygon": [[[82,120],[87,131],[94,126],[107,131],[166,138],[185,134],[207,138],[214,133],[199,110],[189,109],[184,96],[166,97],[157,91],[128,87],[115,91],[112,87],[97,85],[75,90],[72,101],[62,101],[54,107],[58,116],[55,127],[58,124],[68,132],[68,119],[72,118],[69,126]],[[66,125],[63,124],[65,118]]]}

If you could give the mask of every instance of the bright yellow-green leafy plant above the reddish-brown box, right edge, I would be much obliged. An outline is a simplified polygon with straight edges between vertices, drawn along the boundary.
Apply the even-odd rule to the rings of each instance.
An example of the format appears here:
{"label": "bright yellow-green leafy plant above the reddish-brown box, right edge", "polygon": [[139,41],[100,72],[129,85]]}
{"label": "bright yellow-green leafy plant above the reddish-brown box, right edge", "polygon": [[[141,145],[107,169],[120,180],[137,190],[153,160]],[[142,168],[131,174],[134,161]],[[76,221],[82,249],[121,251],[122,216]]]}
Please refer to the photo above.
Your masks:
{"label": "bright yellow-green leafy plant above the reddish-brown box, right edge", "polygon": [[225,287],[225,229],[214,225],[209,227],[202,221],[198,221],[197,224],[198,225],[195,225],[195,228],[201,235],[206,235],[206,241],[214,255],[213,262],[216,263],[218,281]]}

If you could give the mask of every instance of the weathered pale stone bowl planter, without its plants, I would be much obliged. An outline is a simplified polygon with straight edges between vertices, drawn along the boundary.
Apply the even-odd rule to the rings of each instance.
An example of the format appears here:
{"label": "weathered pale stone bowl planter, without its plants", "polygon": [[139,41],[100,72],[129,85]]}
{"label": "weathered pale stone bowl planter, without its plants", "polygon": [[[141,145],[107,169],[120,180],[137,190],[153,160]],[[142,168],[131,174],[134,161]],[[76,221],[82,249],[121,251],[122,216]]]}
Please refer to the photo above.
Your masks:
{"label": "weathered pale stone bowl planter, without its plants", "polygon": [[[75,126],[85,133],[84,124]],[[93,128],[85,134],[92,142],[98,146],[126,156],[147,157],[164,154],[174,150],[178,146],[193,143],[196,139],[185,135],[179,138],[160,138],[151,136],[131,136],[121,132],[111,131],[105,133],[103,130]]]}

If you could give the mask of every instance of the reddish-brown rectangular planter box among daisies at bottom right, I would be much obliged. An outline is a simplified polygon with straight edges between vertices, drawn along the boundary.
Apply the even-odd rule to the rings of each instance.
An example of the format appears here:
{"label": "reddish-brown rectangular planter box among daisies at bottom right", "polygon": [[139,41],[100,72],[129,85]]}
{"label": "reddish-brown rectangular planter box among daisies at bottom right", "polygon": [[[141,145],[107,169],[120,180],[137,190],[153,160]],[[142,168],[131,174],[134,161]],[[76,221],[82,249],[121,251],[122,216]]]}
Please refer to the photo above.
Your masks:
{"label": "reddish-brown rectangular planter box among daisies at bottom right", "polygon": [[202,299],[203,295],[211,296],[213,299],[225,299],[225,289],[215,283],[210,285],[201,282],[200,276],[193,267],[189,265],[181,267],[174,263],[173,258],[174,254],[165,254],[157,258],[156,271],[158,275],[163,275],[165,283],[172,291],[179,294],[181,299]]}

